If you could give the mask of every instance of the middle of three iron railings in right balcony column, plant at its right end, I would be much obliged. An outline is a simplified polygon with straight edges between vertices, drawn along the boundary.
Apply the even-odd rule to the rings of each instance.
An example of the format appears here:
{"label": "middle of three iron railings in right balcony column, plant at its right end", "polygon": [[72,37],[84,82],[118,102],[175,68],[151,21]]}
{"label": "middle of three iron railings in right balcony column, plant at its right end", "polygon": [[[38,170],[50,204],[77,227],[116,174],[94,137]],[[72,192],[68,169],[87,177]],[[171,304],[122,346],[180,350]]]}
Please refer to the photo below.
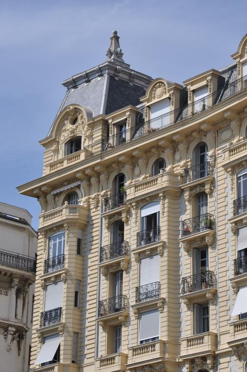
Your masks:
{"label": "middle of three iron railings in right balcony column, plant at its right end", "polygon": [[200,233],[204,230],[212,230],[215,223],[214,216],[210,213],[197,216],[194,218],[188,218],[182,221],[182,233],[181,236],[190,235],[193,233]]}

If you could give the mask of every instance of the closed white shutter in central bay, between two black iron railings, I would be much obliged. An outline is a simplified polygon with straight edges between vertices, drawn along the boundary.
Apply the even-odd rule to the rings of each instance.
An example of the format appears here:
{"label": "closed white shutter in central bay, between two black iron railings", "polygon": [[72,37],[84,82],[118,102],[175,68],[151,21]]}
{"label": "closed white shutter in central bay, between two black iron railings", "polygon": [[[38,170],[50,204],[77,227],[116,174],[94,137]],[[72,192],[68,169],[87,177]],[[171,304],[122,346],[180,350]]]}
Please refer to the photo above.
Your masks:
{"label": "closed white shutter in central bay, between two black iron railings", "polygon": [[140,286],[159,281],[159,265],[158,254],[140,260]]}

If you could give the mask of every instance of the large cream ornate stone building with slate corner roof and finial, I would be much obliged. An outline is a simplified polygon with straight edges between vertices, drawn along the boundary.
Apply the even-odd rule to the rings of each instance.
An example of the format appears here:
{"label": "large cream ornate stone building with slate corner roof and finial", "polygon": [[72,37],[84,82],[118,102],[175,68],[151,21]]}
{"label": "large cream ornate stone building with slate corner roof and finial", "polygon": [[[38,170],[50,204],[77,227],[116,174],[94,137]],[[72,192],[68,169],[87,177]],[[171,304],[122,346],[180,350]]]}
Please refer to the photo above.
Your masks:
{"label": "large cream ornate stone building with slate corner roof and finial", "polygon": [[43,176],[31,371],[247,371],[247,35],[184,81],[65,80]]}

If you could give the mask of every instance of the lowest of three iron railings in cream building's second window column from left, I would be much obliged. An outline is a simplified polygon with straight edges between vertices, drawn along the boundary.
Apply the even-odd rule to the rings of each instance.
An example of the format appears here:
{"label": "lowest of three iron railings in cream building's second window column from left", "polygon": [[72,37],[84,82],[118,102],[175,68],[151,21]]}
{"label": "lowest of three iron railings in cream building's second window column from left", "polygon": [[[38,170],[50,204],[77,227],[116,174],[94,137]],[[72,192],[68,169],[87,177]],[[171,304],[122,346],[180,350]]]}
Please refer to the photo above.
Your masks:
{"label": "lowest of three iron railings in cream building's second window column from left", "polygon": [[124,294],[107,298],[106,300],[99,301],[98,316],[100,317],[113,314],[114,312],[127,310],[127,307],[128,299]]}

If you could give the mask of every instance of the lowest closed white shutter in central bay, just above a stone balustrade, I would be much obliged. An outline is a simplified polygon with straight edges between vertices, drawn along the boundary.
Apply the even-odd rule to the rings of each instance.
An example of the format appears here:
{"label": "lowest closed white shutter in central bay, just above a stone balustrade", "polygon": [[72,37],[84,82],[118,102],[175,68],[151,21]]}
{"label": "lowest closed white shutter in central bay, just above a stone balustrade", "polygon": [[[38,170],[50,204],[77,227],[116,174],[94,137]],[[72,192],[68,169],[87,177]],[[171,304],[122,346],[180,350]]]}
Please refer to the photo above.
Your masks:
{"label": "lowest closed white shutter in central bay, just above a stone balustrade", "polygon": [[159,310],[140,313],[139,341],[159,337]]}

